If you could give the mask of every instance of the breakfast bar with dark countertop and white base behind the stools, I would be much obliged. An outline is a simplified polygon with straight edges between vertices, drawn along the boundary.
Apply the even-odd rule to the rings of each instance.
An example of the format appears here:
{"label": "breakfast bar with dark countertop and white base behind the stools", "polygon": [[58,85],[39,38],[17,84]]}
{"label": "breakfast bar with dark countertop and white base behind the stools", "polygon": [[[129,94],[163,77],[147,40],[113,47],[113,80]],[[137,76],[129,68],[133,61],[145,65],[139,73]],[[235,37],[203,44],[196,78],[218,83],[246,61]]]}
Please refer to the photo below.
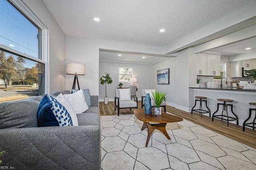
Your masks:
{"label": "breakfast bar with dark countertop and white base behind the stools", "polygon": [[[236,89],[234,87],[189,87],[189,93],[190,111],[194,106],[195,96],[203,96],[207,97],[207,105],[210,108],[211,115],[217,109],[217,103],[219,103],[217,99],[234,100],[234,102],[232,102],[233,110],[238,116],[238,125],[240,126],[242,126],[244,120],[247,119],[249,108],[255,108],[250,106],[249,103],[256,102],[256,90]],[[219,111],[219,114],[221,114],[221,111]],[[253,119],[250,121],[252,122]],[[230,123],[235,123],[235,121]]]}

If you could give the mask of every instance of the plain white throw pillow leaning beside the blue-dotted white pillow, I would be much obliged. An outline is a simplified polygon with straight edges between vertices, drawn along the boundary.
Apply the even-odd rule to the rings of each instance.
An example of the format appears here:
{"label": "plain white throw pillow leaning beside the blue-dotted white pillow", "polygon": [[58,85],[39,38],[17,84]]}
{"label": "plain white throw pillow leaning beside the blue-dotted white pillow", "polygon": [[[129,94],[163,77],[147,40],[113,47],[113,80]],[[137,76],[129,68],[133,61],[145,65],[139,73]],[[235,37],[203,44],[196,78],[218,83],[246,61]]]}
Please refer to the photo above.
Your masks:
{"label": "plain white throw pillow leaning beside the blue-dotted white pillow", "polygon": [[84,113],[89,109],[86,102],[84,101],[84,94],[82,90],[72,94],[65,94],[63,97],[73,107],[76,114]]}

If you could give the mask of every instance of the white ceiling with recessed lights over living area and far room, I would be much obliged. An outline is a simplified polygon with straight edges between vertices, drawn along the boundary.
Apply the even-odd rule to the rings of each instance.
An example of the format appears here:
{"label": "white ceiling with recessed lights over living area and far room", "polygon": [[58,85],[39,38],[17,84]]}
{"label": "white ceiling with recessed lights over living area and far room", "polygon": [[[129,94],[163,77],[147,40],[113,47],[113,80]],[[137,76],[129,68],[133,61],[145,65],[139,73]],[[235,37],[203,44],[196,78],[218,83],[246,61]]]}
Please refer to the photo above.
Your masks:
{"label": "white ceiling with recessed lights over living area and far room", "polygon": [[[66,36],[166,47],[256,0],[43,0]],[[101,18],[95,22],[93,17]],[[161,28],[166,32],[159,32]],[[236,48],[235,48],[236,49]],[[218,49],[224,50],[224,49]],[[101,51],[105,59],[117,51]],[[165,56],[124,53],[116,61],[155,63]],[[126,57],[128,56],[128,57]]]}

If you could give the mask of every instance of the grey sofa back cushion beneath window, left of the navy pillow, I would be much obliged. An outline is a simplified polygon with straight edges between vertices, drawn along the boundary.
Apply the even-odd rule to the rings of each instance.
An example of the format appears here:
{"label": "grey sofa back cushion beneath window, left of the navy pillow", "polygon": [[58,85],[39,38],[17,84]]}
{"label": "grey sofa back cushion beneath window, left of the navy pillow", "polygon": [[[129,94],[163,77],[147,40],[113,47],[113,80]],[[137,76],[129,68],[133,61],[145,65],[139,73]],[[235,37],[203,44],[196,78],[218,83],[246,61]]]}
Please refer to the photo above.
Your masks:
{"label": "grey sofa back cushion beneath window, left of the navy pillow", "polygon": [[38,127],[36,110],[42,98],[0,103],[0,129]]}

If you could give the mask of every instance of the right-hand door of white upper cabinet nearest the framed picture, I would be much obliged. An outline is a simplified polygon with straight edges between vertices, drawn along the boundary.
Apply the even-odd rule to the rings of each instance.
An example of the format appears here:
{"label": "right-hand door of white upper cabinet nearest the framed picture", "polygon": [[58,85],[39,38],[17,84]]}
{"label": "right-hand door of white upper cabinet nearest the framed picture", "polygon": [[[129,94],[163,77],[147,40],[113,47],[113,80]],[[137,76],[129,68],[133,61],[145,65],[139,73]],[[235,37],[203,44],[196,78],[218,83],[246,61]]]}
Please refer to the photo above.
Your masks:
{"label": "right-hand door of white upper cabinet nearest the framed picture", "polygon": [[220,55],[207,54],[207,75],[220,76]]}

